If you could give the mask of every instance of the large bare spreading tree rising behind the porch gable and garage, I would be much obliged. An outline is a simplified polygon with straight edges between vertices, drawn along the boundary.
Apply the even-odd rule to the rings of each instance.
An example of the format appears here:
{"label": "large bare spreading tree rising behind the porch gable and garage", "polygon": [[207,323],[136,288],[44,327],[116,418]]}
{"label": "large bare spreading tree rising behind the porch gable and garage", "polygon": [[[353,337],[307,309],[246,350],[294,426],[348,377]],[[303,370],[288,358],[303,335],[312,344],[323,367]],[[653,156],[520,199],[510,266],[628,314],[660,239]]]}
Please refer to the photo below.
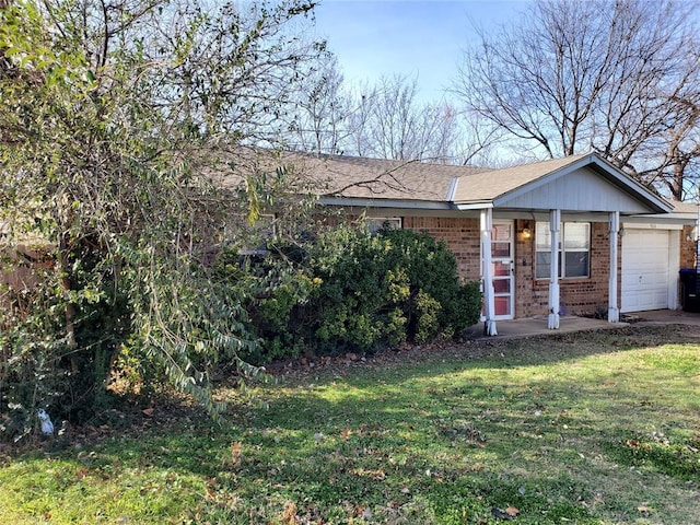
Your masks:
{"label": "large bare spreading tree rising behind the porch gable and garage", "polygon": [[697,178],[695,4],[541,0],[479,32],[455,91],[468,109],[547,156],[597,151],[677,199]]}

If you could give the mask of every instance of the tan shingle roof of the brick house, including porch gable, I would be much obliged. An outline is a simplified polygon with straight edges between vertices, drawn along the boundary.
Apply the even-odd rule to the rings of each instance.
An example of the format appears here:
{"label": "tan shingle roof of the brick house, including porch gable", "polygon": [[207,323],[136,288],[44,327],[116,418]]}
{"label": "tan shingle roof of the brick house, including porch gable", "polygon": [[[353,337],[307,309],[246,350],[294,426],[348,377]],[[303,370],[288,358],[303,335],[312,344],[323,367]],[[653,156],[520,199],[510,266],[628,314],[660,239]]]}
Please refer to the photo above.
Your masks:
{"label": "tan shingle roof of the brick house, including porch gable", "polygon": [[[295,152],[272,154],[252,149],[248,160],[258,167],[273,171],[280,165],[292,170],[296,188],[319,195],[331,203],[342,199],[395,201],[417,207],[503,206],[526,187],[558,179],[572,171],[588,167],[623,192],[644,202],[649,210],[670,211],[670,206],[640,186],[629,176],[595,154],[522,164],[502,170],[455,166],[420,161],[392,161],[345,155],[313,155]],[[226,176],[226,185],[238,185]],[[338,200],[340,199],[340,200]],[[505,200],[504,200],[505,199]],[[366,203],[365,203],[366,205]]]}

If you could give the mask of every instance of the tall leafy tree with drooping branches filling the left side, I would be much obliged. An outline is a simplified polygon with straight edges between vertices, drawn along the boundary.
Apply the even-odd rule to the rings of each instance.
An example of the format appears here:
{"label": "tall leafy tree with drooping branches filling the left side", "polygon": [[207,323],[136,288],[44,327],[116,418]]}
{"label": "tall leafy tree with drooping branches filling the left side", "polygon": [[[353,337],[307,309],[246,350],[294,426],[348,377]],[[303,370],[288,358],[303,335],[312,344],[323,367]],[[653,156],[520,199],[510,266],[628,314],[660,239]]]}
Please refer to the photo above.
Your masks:
{"label": "tall leafy tree with drooping branches filling the left side", "polygon": [[[241,147],[273,144],[323,51],[295,25],[313,4],[0,5],[4,248],[32,243],[55,261],[0,319],[3,411],[89,417],[122,351],[214,416],[212,366],[255,372],[238,357],[256,343],[246,281],[218,279],[212,248],[224,231],[240,236],[231,218],[265,207],[260,189],[282,184]],[[246,184],[223,191],[220,176]]]}

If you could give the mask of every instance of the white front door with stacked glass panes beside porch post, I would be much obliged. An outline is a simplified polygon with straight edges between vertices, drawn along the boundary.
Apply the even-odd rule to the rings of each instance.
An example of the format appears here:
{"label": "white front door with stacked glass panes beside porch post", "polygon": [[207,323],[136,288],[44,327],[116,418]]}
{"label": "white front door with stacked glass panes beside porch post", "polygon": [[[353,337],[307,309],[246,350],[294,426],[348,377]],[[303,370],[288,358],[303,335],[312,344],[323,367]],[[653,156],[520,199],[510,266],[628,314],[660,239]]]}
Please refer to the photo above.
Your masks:
{"label": "white front door with stacked glass panes beside porch post", "polygon": [[514,315],[515,276],[513,268],[513,221],[493,221],[491,230],[491,275],[495,319],[512,319]]}

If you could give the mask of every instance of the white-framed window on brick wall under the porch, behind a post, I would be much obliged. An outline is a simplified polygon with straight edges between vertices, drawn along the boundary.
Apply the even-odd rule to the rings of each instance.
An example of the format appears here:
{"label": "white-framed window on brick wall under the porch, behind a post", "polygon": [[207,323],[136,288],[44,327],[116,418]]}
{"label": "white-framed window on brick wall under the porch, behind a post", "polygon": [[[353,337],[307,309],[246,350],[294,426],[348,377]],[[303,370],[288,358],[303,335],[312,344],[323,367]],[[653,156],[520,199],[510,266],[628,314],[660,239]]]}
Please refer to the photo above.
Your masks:
{"label": "white-framed window on brick wall under the porch, behind a post", "polygon": [[[591,275],[591,223],[564,222],[559,230],[559,277]],[[551,269],[551,232],[548,222],[535,225],[535,266],[537,279],[549,279]]]}

